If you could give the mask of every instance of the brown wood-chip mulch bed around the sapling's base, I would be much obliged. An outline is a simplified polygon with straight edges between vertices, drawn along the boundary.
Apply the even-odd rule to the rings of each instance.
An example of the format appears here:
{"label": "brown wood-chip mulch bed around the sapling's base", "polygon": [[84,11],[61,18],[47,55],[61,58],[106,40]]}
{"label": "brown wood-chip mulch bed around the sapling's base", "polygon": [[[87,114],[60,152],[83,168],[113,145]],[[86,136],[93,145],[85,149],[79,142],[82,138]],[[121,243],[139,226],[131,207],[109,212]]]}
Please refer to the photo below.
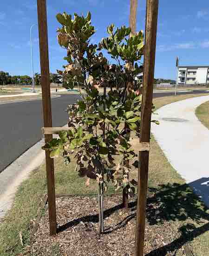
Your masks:
{"label": "brown wood-chip mulch bed around the sapling's base", "polygon": [[[45,208],[33,243],[20,255],[44,256],[134,256],[136,198],[129,209],[121,208],[122,195],[104,196],[104,234],[98,235],[97,197],[72,196],[56,198],[59,233],[49,236],[48,209]],[[155,213],[156,202],[147,211]],[[153,214],[153,219],[155,219]],[[172,247],[179,237],[170,222],[146,223],[144,255],[187,255],[184,248]],[[169,245],[169,246],[168,246]]]}

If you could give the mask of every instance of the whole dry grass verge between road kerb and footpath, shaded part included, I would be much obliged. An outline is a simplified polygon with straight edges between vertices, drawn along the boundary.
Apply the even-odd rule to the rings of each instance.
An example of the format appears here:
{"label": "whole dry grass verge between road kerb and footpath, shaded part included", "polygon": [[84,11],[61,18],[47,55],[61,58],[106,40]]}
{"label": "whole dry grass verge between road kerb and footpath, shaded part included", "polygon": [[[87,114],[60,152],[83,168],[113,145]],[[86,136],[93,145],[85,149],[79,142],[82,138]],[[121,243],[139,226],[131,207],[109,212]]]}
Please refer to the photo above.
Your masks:
{"label": "whole dry grass verge between road kerb and footpath, shaded part included", "polygon": [[[153,103],[156,108],[160,108],[174,101],[202,95],[205,94],[167,96],[156,98]],[[209,211],[172,168],[153,136],[150,143],[148,204],[156,201],[160,207],[155,216],[160,219],[161,224],[163,225],[163,220],[169,220],[172,229],[178,230],[179,237],[173,241],[176,247],[189,243],[192,253],[206,256],[209,251]],[[61,159],[55,161],[56,194],[95,194],[96,185],[86,188],[85,178],[79,178],[74,167],[73,161],[70,168],[66,168]],[[137,176],[137,170],[133,175]],[[112,187],[108,190],[109,193],[113,191]],[[1,256],[17,255],[30,243],[30,226],[37,217],[40,198],[45,193],[46,172],[45,165],[42,165],[21,184],[12,209],[0,224]],[[148,222],[150,225],[155,224],[152,216],[149,216]],[[19,232],[23,237],[23,246]]]}

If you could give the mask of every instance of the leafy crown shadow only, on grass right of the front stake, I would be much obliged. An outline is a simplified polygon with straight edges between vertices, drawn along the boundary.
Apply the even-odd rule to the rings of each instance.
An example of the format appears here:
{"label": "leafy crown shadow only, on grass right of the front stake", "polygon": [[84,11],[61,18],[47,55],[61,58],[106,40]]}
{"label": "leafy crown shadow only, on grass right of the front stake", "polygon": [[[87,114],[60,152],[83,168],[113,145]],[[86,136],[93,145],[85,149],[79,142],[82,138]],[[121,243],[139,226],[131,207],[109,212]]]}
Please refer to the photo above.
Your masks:
{"label": "leafy crown shadow only, on grass right of the front stake", "polygon": [[154,194],[147,199],[146,215],[151,225],[157,224],[159,220],[162,222],[191,219],[197,223],[201,223],[201,219],[209,221],[207,207],[189,185],[173,183],[149,190]]}

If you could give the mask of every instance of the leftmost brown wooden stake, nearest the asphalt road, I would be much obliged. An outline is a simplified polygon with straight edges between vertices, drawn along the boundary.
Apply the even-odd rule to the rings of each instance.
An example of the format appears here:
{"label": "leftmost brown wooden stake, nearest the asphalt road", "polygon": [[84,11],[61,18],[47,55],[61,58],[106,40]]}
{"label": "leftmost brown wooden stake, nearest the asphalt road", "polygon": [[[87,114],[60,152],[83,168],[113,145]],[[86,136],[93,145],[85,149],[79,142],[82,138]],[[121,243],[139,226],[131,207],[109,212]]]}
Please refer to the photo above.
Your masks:
{"label": "leftmost brown wooden stake, nearest the asphalt road", "polygon": [[[46,0],[37,0],[37,7],[38,7],[38,22],[39,22],[39,48],[40,48],[41,89],[42,89],[44,126],[52,127]],[[48,142],[51,140],[52,140],[52,135],[45,135],[45,142]],[[56,202],[55,202],[55,187],[54,187],[54,162],[53,162],[53,159],[49,157],[48,151],[46,151],[46,178],[47,178],[47,190],[48,190],[50,235],[56,235],[57,222],[56,222]]]}

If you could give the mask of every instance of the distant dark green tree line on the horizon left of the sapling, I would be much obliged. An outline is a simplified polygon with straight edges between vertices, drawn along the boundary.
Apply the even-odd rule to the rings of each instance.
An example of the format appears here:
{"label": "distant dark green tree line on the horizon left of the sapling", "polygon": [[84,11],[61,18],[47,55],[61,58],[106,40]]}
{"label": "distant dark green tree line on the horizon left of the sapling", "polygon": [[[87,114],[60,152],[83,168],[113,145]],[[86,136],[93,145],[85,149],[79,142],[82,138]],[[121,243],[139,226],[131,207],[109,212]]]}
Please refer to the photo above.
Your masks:
{"label": "distant dark green tree line on the horizon left of the sapling", "polygon": [[[34,84],[40,85],[40,74],[34,74]],[[52,83],[61,83],[59,74],[50,74]],[[32,78],[28,75],[10,75],[8,72],[0,71],[0,85],[32,85]]]}

